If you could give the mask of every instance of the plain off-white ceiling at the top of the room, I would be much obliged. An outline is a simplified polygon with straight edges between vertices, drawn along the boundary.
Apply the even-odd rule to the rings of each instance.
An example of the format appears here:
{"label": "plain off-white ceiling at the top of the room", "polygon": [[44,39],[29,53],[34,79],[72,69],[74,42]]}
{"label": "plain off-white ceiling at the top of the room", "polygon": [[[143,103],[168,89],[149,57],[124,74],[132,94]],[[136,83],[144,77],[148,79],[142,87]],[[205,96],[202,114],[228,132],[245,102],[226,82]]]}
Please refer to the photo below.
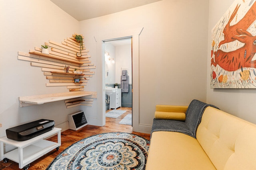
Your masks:
{"label": "plain off-white ceiling at the top of the room", "polygon": [[78,21],[88,20],[160,0],[50,0]]}

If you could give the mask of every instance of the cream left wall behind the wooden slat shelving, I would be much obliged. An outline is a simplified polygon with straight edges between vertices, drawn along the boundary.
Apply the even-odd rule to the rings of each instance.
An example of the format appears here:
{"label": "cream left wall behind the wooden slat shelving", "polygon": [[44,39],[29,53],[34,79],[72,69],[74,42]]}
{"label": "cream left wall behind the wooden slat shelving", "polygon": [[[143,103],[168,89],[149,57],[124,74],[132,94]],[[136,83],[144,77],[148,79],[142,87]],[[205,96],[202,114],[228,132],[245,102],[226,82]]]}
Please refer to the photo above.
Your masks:
{"label": "cream left wall behind the wooden slat shelving", "polygon": [[[50,0],[0,1],[0,137],[5,129],[37,119],[52,119],[56,125],[68,120],[63,101],[19,107],[19,96],[68,92],[66,87],[46,87],[40,67],[17,59],[18,51],[28,53],[52,40],[58,43],[79,33],[79,22]],[[78,110],[77,110],[78,109]]]}

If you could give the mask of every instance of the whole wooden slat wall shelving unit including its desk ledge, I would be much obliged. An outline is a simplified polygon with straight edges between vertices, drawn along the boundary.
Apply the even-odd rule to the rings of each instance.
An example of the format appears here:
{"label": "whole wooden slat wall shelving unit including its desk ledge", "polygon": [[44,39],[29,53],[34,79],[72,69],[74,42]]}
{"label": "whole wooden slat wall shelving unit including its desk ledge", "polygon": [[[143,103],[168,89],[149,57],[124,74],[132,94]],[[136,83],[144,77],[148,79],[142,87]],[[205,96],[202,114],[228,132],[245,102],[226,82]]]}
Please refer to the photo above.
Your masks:
{"label": "whole wooden slat wall shelving unit including its desk ledge", "polygon": [[[65,100],[65,103],[67,101],[70,102],[68,103],[67,108],[80,105],[92,106],[93,98],[97,98],[97,92],[84,92],[83,90],[88,79],[92,77],[92,75],[88,74],[95,73],[90,72],[90,68],[96,67],[88,59],[88,57],[91,57],[90,55],[87,55],[89,50],[86,48],[79,50],[80,44],[76,42],[76,39],[74,39],[75,36],[76,34],[72,35],[72,38],[64,39],[64,42],[61,44],[49,40],[49,43],[45,43],[45,45],[52,49],[52,52],[49,55],[41,53],[42,50],[38,47],[35,47],[35,51],[30,50],[30,55],[28,53],[18,52],[18,59],[30,61],[31,66],[42,67],[42,71],[44,72],[44,75],[46,75],[46,79],[50,79],[49,83],[46,83],[46,86],[67,86],[68,90],[71,91],[56,94],[19,97],[20,107],[39,105],[60,100]],[[80,53],[81,56],[78,57],[77,53]],[[72,65],[72,68],[74,68],[74,66],[77,67],[84,73],[78,74],[73,73],[72,71],[65,72],[64,65],[67,64]],[[82,67],[82,69],[80,69],[80,67]],[[76,78],[80,79],[80,82],[74,82]],[[90,100],[89,103],[88,100]]]}

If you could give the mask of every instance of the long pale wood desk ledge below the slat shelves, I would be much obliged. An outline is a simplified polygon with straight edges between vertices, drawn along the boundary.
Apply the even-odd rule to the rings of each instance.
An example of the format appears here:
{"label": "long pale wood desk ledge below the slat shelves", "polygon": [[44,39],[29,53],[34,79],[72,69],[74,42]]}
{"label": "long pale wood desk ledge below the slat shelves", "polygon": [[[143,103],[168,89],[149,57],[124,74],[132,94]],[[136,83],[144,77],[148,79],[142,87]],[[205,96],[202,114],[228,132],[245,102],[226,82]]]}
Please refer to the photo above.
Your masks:
{"label": "long pale wood desk ledge below the slat shelves", "polygon": [[79,98],[84,96],[91,96],[90,92],[64,92],[55,94],[42,94],[36,96],[19,97],[20,107],[31,106],[35,104],[44,104],[48,102],[56,102],[60,100],[67,100],[72,98]]}

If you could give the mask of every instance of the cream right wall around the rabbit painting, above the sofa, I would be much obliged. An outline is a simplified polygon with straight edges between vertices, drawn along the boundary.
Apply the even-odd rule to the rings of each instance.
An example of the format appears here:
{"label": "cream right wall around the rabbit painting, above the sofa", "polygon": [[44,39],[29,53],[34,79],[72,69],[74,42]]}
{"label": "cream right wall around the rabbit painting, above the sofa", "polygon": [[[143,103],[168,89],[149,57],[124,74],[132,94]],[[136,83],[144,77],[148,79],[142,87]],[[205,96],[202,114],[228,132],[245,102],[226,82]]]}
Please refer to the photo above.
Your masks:
{"label": "cream right wall around the rabbit painting, above the sofa", "polygon": [[[207,102],[218,106],[220,109],[228,113],[236,115],[242,119],[246,119],[252,123],[256,123],[255,89],[210,88],[211,30],[233,2],[234,0],[210,0],[209,3]],[[240,0],[238,3],[243,2]]]}

